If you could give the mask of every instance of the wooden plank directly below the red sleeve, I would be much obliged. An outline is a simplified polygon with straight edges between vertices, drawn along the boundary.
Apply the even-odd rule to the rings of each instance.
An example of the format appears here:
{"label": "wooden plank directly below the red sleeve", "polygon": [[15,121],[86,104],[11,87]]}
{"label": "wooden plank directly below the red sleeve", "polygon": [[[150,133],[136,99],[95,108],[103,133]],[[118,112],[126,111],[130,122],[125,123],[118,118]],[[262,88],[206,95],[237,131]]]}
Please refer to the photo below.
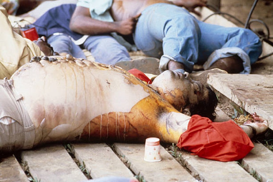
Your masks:
{"label": "wooden plank directly below the red sleeve", "polygon": [[180,151],[181,158],[185,160],[187,168],[193,176],[199,176],[201,180],[207,182],[257,182],[248,172],[246,172],[235,161],[219,162],[199,158],[197,155],[191,155],[189,152]]}

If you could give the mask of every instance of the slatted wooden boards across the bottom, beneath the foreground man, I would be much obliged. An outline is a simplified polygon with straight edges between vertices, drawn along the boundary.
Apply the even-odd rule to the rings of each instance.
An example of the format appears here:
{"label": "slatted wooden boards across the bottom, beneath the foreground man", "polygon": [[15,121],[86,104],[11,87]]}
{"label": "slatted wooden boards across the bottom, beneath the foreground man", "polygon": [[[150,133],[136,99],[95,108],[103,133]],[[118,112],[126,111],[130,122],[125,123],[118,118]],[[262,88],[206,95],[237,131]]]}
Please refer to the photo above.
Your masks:
{"label": "slatted wooden boards across the bottom, beneath the foreground man", "polygon": [[[261,181],[273,180],[273,153],[256,143],[254,149],[243,159],[218,162],[179,151],[183,165],[175,160],[163,147],[162,161],[146,162],[144,144],[115,143],[112,147],[100,144],[72,144],[75,157],[93,179],[106,176],[142,177],[145,181]],[[114,150],[114,151],[113,151]],[[22,161],[34,179],[41,182],[79,182],[88,178],[75,159],[71,158],[63,145],[49,145],[20,153]],[[249,172],[245,171],[248,170]],[[0,181],[29,181],[14,155],[2,158]]]}

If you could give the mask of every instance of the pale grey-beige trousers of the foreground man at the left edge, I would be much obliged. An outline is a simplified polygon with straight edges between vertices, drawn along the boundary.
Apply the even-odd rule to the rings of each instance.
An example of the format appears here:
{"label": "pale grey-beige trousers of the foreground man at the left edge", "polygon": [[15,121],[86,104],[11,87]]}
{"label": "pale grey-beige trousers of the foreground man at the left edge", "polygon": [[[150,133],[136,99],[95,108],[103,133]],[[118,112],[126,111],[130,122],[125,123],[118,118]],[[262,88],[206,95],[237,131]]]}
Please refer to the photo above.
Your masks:
{"label": "pale grey-beige trousers of the foreground man at the left edge", "polygon": [[8,80],[0,80],[0,151],[32,148],[35,126]]}

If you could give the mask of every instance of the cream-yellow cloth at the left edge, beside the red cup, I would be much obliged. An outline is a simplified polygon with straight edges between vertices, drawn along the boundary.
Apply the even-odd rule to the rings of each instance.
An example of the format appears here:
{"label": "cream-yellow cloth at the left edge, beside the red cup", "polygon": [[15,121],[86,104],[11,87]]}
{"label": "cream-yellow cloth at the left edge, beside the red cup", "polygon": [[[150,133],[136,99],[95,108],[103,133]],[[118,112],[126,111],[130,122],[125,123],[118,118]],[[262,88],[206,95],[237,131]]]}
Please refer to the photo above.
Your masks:
{"label": "cream-yellow cloth at the left edge, beside the red cup", "polygon": [[40,48],[12,30],[5,8],[0,5],[0,79],[10,78],[23,64],[33,56],[44,55]]}

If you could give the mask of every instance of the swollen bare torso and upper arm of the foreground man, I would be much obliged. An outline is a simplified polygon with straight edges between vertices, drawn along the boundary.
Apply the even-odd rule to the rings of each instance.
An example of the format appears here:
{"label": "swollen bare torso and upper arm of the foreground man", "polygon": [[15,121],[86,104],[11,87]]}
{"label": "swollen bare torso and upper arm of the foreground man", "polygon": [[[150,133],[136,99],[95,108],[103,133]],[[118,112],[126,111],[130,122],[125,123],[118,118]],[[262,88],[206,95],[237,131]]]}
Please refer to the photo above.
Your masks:
{"label": "swollen bare torso and upper arm of the foreground man", "polygon": [[52,141],[176,143],[189,116],[125,70],[55,56],[23,65],[10,81],[35,125],[34,146]]}

